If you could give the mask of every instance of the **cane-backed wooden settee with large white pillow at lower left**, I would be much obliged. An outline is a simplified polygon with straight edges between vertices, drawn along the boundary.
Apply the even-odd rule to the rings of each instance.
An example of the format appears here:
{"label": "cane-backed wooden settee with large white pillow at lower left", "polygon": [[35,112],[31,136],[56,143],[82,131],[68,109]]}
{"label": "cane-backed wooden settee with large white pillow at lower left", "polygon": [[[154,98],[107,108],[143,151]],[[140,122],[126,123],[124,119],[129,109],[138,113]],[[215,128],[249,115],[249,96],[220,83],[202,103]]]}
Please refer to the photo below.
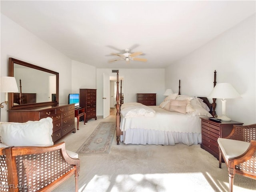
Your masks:
{"label": "cane-backed wooden settee with large white pillow at lower left", "polygon": [[80,160],[65,143],[53,145],[52,118],[0,124],[0,191],[51,191],[71,176],[78,192]]}

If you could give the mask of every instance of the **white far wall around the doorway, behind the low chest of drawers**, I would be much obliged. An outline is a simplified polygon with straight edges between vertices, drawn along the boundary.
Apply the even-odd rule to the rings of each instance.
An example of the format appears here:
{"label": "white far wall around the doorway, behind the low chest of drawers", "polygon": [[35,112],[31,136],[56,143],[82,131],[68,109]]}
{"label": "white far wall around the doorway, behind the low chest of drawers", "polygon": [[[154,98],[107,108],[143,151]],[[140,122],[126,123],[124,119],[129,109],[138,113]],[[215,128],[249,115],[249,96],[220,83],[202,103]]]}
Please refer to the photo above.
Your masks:
{"label": "white far wall around the doorway, behind the low chest of drawers", "polygon": [[[97,69],[97,115],[103,115],[103,73],[116,76],[112,69]],[[164,69],[119,69],[124,77],[124,102],[136,102],[136,93],[156,93],[156,104],[164,100]],[[119,84],[120,85],[120,84]],[[119,90],[120,91],[120,90]]]}

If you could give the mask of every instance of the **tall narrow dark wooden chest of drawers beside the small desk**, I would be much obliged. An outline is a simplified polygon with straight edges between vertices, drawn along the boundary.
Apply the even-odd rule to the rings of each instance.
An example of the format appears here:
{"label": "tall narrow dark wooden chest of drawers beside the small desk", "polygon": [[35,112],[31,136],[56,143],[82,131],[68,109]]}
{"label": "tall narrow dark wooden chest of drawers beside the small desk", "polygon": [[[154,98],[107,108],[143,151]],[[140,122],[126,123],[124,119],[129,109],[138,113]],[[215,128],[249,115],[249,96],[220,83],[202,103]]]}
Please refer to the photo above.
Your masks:
{"label": "tall narrow dark wooden chest of drawers beside the small desk", "polygon": [[85,108],[87,122],[89,119],[96,117],[96,89],[80,89],[79,105]]}

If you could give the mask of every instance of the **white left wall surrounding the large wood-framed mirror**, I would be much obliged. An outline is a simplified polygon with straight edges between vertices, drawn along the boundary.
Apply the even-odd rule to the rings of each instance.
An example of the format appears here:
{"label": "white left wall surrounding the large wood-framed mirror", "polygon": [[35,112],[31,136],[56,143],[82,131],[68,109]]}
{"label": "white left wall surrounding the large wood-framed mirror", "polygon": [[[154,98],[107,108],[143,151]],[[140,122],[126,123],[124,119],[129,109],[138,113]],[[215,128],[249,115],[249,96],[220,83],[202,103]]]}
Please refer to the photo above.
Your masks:
{"label": "white left wall surrounding the large wood-framed mirror", "polygon": [[[8,76],[8,58],[16,58],[59,72],[60,103],[67,103],[71,92],[71,60],[1,14],[1,76]],[[1,93],[2,102],[4,93]],[[8,106],[1,109],[1,121],[7,121]]]}

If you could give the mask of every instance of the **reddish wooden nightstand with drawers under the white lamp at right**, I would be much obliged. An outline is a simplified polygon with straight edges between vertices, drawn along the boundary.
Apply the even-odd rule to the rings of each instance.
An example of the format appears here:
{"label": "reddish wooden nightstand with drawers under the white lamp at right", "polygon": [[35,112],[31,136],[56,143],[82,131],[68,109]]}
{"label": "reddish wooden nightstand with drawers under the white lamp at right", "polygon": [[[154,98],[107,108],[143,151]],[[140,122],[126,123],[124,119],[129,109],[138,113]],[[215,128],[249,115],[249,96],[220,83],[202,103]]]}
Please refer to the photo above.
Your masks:
{"label": "reddish wooden nightstand with drawers under the white lamp at right", "polygon": [[233,129],[233,125],[243,125],[236,121],[215,122],[208,117],[201,118],[202,143],[201,148],[208,151],[214,157],[219,159],[219,146],[217,139],[227,137]]}

